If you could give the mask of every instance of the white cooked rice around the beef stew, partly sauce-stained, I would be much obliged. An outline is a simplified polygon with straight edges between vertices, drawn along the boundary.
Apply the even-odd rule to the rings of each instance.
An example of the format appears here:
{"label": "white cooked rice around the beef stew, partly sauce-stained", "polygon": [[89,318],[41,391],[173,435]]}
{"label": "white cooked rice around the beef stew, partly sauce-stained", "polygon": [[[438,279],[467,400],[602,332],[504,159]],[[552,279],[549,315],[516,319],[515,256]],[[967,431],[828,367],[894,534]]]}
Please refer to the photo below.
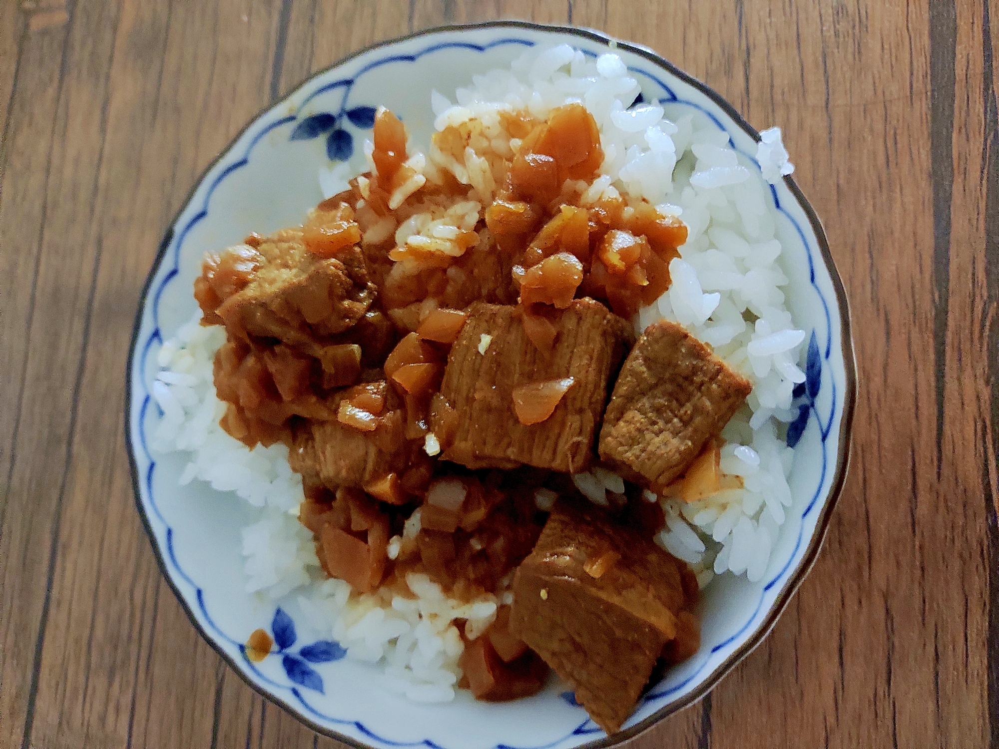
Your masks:
{"label": "white cooked rice around the beef stew, partly sauce-stained", "polygon": [[[528,50],[508,69],[474,76],[471,87],[456,92],[455,103],[435,91],[435,128],[465,127],[473,137],[464,149],[434,145],[426,155],[414,153],[408,165],[415,176],[393,193],[390,205],[399,206],[428,180],[439,182],[442,172],[468,186],[468,197],[448,208],[418,204],[400,226],[373,226],[366,239],[394,231],[403,250],[450,253],[449,243],[474,228],[493,199],[492,165],[518,145],[503,129],[500,112],[544,118],[564,104],[585,105],[605,158],[600,176],[578,186],[582,204],[618,195],[646,200],[660,213],[679,216],[688,229],[680,257],[669,265],[669,290],[639,311],[636,332],[657,320],[677,322],[753,385],[746,405],[722,431],[722,472],[738,476],[742,487],[693,502],[646,491],[665,515],[655,540],[690,564],[701,587],[725,572],[757,581],[791,503],[793,450],[783,434],[797,415],[792,390],[805,379],[798,367],[805,333],[794,327],[784,304],[781,287],[788,280],[767,186],[793,166],[777,128],[761,133],[753,162],[703,115],[677,104],[631,106],[638,94],[618,56],[593,60],[567,45]],[[366,143],[369,162],[372,151]],[[319,170],[324,197],[346,189],[348,169]],[[216,396],[212,362],[225,332],[201,327],[200,318],[199,312],[159,353],[152,392],[163,415],[152,441],[158,450],[191,453],[182,484],[207,481],[261,508],[260,519],[242,531],[247,591],[271,598],[297,591],[299,608],[317,631],[339,641],[348,657],[382,664],[396,691],[418,701],[451,700],[464,648],[455,620],[467,620],[466,635],[475,638],[509,593],[464,603],[421,574],[407,577],[412,598],[385,590],[357,594],[343,580],[324,579],[312,534],[297,519],[302,479],[288,465],[288,448],[249,449],[219,425],[225,404]],[[607,491],[623,491],[619,476],[598,467],[573,480],[599,504],[608,503]],[[552,499],[537,497],[539,506]],[[406,532],[415,534],[418,524],[408,523]],[[399,537],[393,542],[398,549]]]}

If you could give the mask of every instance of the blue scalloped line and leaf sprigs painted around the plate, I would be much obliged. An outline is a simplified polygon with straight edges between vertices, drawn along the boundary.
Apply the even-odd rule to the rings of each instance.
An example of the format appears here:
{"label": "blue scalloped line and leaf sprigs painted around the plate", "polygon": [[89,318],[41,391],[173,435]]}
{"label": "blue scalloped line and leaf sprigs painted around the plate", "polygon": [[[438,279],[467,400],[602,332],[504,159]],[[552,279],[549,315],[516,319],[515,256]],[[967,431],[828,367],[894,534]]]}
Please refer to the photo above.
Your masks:
{"label": "blue scalloped line and leaf sprigs painted around the plate", "polygon": [[[325,694],[323,677],[315,666],[341,660],[345,656],[345,651],[339,643],[332,640],[317,640],[296,649],[295,646],[299,638],[295,621],[283,608],[278,608],[274,612],[271,621],[271,632],[276,649],[272,649],[266,657],[280,657],[282,671],[287,681],[277,681],[265,675],[248,657],[247,647],[244,642],[228,634],[216,624],[215,618],[205,600],[204,591],[196,583],[195,579],[192,578],[191,574],[180,564],[177,558],[174,546],[174,528],[167,522],[157,504],[156,492],[153,485],[157,461],[149,450],[146,433],[148,424],[147,414],[151,403],[155,407],[155,401],[152,400],[150,395],[148,373],[151,371],[151,363],[155,363],[158,347],[163,344],[163,334],[160,327],[160,302],[164,291],[176,280],[179,274],[181,249],[184,246],[187,236],[192,228],[203,221],[209,213],[212,194],[224,180],[249,163],[254,149],[257,148],[258,144],[268,134],[287,129],[287,138],[291,141],[312,141],[318,138],[325,138],[328,158],[333,161],[346,161],[351,158],[355,150],[354,135],[350,128],[368,130],[373,127],[375,120],[376,110],[374,107],[367,105],[347,105],[349,94],[363,75],[384,65],[413,63],[424,56],[441,51],[461,49],[483,53],[504,45],[529,47],[534,44],[532,39],[526,38],[526,34],[517,35],[511,33],[511,31],[516,31],[515,25],[511,24],[511,26],[513,26],[512,29],[509,27],[498,28],[496,30],[497,33],[494,34],[494,38],[482,44],[466,41],[464,38],[462,41],[454,40],[455,35],[452,34],[451,39],[453,40],[446,40],[444,42],[435,41],[413,54],[397,54],[389,50],[367,53],[367,56],[364,58],[364,64],[351,78],[325,82],[330,81],[334,77],[336,70],[338,70],[334,69],[307,82],[303,86],[303,90],[307,91],[308,95],[293,113],[289,114],[287,109],[279,110],[276,108],[260,117],[251,126],[251,135],[248,135],[245,139],[241,139],[242,142],[246,143],[246,147],[241,152],[241,155],[236,156],[234,149],[223,161],[210,170],[202,183],[208,186],[207,190],[196,193],[199,196],[198,204],[195,204],[194,200],[192,200],[179,217],[175,229],[168,232],[167,237],[164,239],[157,264],[150,275],[147,290],[144,292],[143,308],[140,318],[137,321],[133,338],[129,365],[130,390],[127,422],[131,444],[130,457],[132,458],[133,476],[137,499],[142,510],[141,514],[168,581],[175,588],[178,597],[188,610],[192,620],[196,625],[203,628],[209,640],[215,644],[220,653],[228,659],[227,652],[239,652],[243,656],[242,663],[240,664],[242,670],[268,696],[290,706],[291,709],[303,714],[306,718],[313,721],[314,724],[326,730],[336,729],[344,731],[348,736],[380,747],[431,746],[444,749],[440,747],[440,744],[430,739],[417,739],[407,742],[391,740],[380,735],[371,727],[365,726],[358,720],[342,719],[329,715],[320,709],[313,699],[309,697],[310,694]],[[587,36],[588,32],[578,33],[579,37],[575,40],[575,43],[587,55],[595,55],[602,51],[604,42],[599,38],[595,35]],[[638,53],[644,54],[640,50]],[[645,96],[641,97],[641,101],[652,99],[661,103],[690,107],[703,113],[719,129],[725,130],[725,125],[718,119],[714,111],[706,109],[696,101],[684,100],[677,97],[673,89],[661,80],[659,77],[661,73],[658,72],[658,69],[635,67],[629,69],[638,74],[643,80],[649,82],[646,84]],[[697,84],[691,83],[691,85],[696,86]],[[650,89],[654,87],[658,87],[658,91],[654,92],[655,95],[650,96],[652,93]],[[335,111],[308,111],[307,113],[309,104],[317,96],[337,89],[343,90],[343,98],[339,109],[335,109]],[[730,127],[738,129],[738,125],[734,123],[730,124]],[[735,148],[734,140],[731,139],[731,132],[727,130],[726,132],[729,132],[730,143]],[[746,156],[750,163],[755,163],[755,160],[748,154],[745,154],[745,152],[740,153]],[[822,306],[825,317],[824,330],[811,331],[806,355],[806,380],[794,390],[794,406],[798,409],[798,415],[789,425],[787,432],[788,444],[793,447],[798,444],[805,433],[812,415],[815,416],[818,423],[818,436],[821,442],[822,456],[821,477],[814,489],[811,500],[801,513],[803,520],[813,511],[815,504],[822,496],[823,488],[827,486],[827,465],[830,455],[828,454],[826,440],[832,430],[837,413],[840,413],[840,411],[837,411],[837,381],[832,375],[835,368],[831,367],[834,329],[832,327],[830,301],[826,299],[825,294],[816,283],[816,258],[818,258],[817,262],[821,263],[821,255],[815,245],[815,240],[813,238],[809,241],[805,229],[781,205],[776,187],[771,186],[770,194],[775,209],[790,222],[800,237],[805,254],[807,255],[811,286]],[[788,193],[785,191],[784,194],[786,199]],[[794,199],[793,193],[790,194],[790,198]],[[817,224],[814,225],[814,228],[816,233],[820,232]],[[831,304],[835,305],[834,299]],[[823,390],[823,381],[828,383],[829,390],[828,395],[823,398],[823,402],[830,402],[828,415],[824,419],[820,416],[818,409],[818,395],[820,390]],[[840,405],[839,407],[842,409],[843,406]],[[840,415],[842,414],[840,413]],[[801,527],[803,527],[803,523],[801,523]],[[712,669],[715,668],[710,665],[711,658],[715,653],[730,648],[732,643],[739,641],[751,627],[758,628],[762,625],[766,614],[763,609],[766,597],[770,595],[772,598],[770,591],[775,586],[780,585],[783,587],[788,584],[790,580],[789,570],[801,561],[799,553],[801,552],[802,544],[801,527],[799,527],[793,551],[783,567],[771,579],[767,580],[763,586],[755,610],[748,619],[735,627],[734,631],[731,631],[721,641],[705,643],[709,645],[709,648],[706,655],[702,651],[701,661],[693,664],[693,667],[687,671],[681,680],[668,684],[663,683],[651,690],[643,698],[646,704],[651,703],[653,709],[660,709],[669,705],[673,699],[673,695],[684,694],[683,690],[687,689],[691,683],[701,683],[706,676],[705,669],[709,667]],[[183,589],[181,587],[182,584],[184,586]],[[235,661],[230,662],[234,666],[236,665]],[[582,708],[576,702],[572,692],[562,692],[560,696],[565,705],[581,711]],[[582,717],[583,719],[575,728],[564,737],[544,746],[535,746],[530,749],[574,746],[581,743],[581,741],[573,737],[600,733],[598,727],[592,721],[585,719],[584,716]]]}

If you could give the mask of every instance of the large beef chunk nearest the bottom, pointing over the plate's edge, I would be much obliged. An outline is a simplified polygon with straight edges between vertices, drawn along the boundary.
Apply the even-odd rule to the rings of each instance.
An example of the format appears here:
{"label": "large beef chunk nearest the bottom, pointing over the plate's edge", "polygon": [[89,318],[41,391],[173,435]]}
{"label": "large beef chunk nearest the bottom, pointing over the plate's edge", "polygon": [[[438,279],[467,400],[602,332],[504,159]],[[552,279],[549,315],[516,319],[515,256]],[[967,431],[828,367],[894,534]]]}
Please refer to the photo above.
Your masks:
{"label": "large beef chunk nearest the bottom, pointing over the plate's edge", "polygon": [[[682,562],[603,511],[559,500],[513,577],[509,630],[575,689],[607,733],[631,714],[690,606]],[[696,621],[695,619],[693,620]]]}

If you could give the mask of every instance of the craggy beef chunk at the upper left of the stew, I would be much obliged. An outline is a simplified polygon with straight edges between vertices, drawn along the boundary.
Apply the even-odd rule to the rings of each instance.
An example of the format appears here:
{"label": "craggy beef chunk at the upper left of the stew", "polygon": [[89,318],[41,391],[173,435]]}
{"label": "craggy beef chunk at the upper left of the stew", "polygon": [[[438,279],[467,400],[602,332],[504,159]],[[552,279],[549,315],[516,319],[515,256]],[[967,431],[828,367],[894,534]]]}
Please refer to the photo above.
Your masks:
{"label": "craggy beef chunk at the upper left of the stew", "polygon": [[[285,229],[260,239],[255,249],[241,246],[226,251],[239,250],[244,265],[256,265],[245,286],[220,297],[211,311],[231,335],[279,339],[319,356],[324,342],[353,327],[368,312],[377,290],[368,280],[361,249],[347,247],[336,257],[323,258],[307,249],[303,237],[300,229]],[[251,253],[254,257],[246,257]],[[206,260],[202,279],[212,277],[207,284],[215,281],[216,269],[226,267],[226,254]],[[210,311],[205,312],[207,319]]]}

